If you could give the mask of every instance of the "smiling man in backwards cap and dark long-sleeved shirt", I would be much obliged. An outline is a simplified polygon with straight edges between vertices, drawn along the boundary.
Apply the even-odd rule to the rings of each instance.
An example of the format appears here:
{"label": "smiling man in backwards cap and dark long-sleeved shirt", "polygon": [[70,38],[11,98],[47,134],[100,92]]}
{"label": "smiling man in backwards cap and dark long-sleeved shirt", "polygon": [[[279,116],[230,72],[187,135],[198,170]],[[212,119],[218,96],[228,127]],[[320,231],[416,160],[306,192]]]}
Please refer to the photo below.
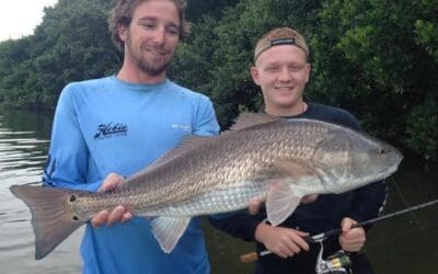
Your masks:
{"label": "smiling man in backwards cap and dark long-sleeved shirt", "polygon": [[[358,122],[350,113],[303,100],[311,70],[308,58],[304,38],[291,28],[275,28],[258,41],[251,75],[262,89],[265,112],[287,118],[322,119],[358,129]],[[365,244],[366,231],[364,228],[351,229],[351,225],[378,215],[383,206],[385,189],[383,182],[377,182],[344,194],[307,197],[310,203],[300,205],[278,227],[264,221],[264,212],[255,216],[239,213],[212,217],[211,224],[234,237],[255,241],[258,252],[273,252],[258,259],[257,274],[315,273],[320,246],[308,243],[303,237],[341,227],[343,233],[338,238],[324,241],[324,255],[339,249],[358,252]],[[359,265],[362,260],[358,258],[361,259],[357,253],[351,255],[354,273],[370,271]]]}

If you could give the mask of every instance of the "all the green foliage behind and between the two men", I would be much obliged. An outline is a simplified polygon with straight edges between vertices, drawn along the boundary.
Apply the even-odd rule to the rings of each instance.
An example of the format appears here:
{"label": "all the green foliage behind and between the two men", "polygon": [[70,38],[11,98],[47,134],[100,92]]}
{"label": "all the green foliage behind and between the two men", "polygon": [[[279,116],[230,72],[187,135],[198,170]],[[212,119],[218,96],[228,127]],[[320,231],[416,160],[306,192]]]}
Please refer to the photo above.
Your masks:
{"label": "all the green foliage behind and between the two men", "polygon": [[[188,0],[192,34],[169,77],[209,95],[226,129],[260,111],[250,76],[265,32],[291,26],[310,45],[307,100],[344,107],[372,134],[438,159],[437,0]],[[113,1],[59,0],[35,34],[0,43],[0,104],[54,109],[70,81],[116,71]]]}

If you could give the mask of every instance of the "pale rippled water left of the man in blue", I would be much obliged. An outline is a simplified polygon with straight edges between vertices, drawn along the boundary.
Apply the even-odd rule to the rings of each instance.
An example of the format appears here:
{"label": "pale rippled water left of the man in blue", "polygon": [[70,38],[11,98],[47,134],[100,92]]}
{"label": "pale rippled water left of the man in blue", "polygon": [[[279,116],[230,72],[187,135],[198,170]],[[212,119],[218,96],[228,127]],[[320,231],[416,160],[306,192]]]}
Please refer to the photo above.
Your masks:
{"label": "pale rippled water left of the man in blue", "polygon": [[1,273],[79,273],[77,231],[53,256],[34,260],[31,214],[9,191],[39,182],[46,161],[51,115],[0,109],[0,270]]}

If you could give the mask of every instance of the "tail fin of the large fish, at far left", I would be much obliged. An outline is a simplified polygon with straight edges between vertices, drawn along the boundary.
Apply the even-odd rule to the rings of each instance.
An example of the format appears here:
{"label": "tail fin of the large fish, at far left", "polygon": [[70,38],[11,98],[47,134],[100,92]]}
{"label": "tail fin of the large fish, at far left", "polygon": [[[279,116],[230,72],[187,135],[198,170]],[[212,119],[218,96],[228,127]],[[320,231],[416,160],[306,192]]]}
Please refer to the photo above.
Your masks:
{"label": "tail fin of the large fish, at far left", "polygon": [[69,206],[78,192],[31,185],[12,185],[10,190],[31,208],[36,260],[46,256],[85,222]]}

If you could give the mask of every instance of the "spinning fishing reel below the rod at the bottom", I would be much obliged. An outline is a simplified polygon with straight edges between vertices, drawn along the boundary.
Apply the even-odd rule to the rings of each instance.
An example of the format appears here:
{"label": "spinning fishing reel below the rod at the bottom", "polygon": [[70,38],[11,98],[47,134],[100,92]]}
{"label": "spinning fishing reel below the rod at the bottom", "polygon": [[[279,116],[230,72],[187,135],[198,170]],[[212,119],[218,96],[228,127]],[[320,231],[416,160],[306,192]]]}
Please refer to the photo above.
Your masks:
{"label": "spinning fishing reel below the rod at the bottom", "polygon": [[351,274],[351,261],[344,250],[339,250],[326,260],[322,259],[324,246],[320,242],[321,250],[318,255],[316,274]]}

